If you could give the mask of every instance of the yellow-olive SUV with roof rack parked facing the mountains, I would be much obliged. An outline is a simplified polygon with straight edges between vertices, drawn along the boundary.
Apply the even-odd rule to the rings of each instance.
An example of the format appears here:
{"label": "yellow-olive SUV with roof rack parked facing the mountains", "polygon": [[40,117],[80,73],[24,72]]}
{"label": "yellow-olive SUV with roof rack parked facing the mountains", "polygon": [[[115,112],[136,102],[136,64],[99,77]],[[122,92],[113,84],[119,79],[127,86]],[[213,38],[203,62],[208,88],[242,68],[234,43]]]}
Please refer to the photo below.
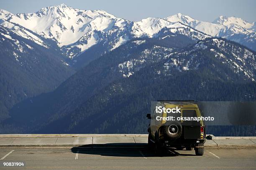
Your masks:
{"label": "yellow-olive SUV with roof rack parked facing the mountains", "polygon": [[165,148],[192,150],[195,154],[204,154],[205,125],[197,104],[192,101],[158,101],[154,104],[148,125],[148,147],[156,154]]}

